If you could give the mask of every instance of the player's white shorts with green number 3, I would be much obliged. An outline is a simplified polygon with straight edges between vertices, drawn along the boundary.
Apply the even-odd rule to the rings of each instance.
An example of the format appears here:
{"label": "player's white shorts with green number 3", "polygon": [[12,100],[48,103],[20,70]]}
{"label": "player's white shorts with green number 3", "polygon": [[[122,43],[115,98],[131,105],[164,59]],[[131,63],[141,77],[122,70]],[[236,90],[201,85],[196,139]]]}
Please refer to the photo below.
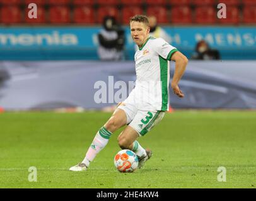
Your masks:
{"label": "player's white shorts with green number 3", "polygon": [[125,111],[127,125],[137,131],[139,136],[144,136],[165,116],[165,111],[146,111],[137,109],[133,104],[121,102],[117,109]]}

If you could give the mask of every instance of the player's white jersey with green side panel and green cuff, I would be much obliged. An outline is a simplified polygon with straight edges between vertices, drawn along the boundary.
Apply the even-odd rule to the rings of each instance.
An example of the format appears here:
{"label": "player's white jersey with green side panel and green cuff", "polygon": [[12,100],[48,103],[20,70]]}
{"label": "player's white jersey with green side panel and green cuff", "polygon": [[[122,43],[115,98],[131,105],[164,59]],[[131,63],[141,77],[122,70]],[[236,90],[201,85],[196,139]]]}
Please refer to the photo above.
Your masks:
{"label": "player's white jersey with green side panel and green cuff", "polygon": [[149,36],[134,55],[136,86],[124,103],[138,109],[167,111],[169,107],[170,58],[177,49],[162,38]]}

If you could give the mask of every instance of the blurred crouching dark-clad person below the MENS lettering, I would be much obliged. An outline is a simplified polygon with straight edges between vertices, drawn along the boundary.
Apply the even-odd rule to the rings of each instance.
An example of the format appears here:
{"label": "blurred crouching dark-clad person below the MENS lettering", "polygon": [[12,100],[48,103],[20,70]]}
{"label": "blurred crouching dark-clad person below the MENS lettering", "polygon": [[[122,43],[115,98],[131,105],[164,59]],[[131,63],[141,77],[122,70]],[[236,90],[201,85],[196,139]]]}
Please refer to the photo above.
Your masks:
{"label": "blurred crouching dark-clad person below the MENS lettering", "polygon": [[201,40],[195,46],[195,53],[192,56],[195,60],[219,60],[219,51],[211,49],[208,43]]}

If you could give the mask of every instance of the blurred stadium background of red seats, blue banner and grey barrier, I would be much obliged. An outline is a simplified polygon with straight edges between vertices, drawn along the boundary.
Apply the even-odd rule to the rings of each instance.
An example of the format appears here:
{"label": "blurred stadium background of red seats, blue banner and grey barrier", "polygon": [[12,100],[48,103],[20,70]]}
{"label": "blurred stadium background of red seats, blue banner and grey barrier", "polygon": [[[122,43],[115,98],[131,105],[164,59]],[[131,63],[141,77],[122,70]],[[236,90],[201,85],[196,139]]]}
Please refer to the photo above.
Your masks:
{"label": "blurred stadium background of red seats, blue banner and grey barrier", "polygon": [[[36,3],[38,18],[28,18],[28,4]],[[219,3],[227,18],[217,18]],[[255,0],[1,0],[0,107],[2,110],[80,107],[104,109],[96,103],[95,83],[108,87],[134,81],[134,43],[129,18],[154,15],[170,42],[188,58],[205,40],[220,60],[190,60],[180,85],[187,94],[174,108],[256,107]],[[98,33],[105,16],[114,16],[125,31],[124,58],[103,62],[98,57]],[[173,68],[172,72],[173,73]],[[114,96],[120,86],[113,87]],[[128,95],[128,94],[127,94]]]}

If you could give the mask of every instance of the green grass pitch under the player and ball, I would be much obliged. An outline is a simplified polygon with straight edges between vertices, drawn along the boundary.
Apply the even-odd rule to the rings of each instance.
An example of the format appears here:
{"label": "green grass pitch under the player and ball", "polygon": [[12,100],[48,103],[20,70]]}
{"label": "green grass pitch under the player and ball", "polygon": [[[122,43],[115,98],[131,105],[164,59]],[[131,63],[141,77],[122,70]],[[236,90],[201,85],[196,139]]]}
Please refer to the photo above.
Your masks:
{"label": "green grass pitch under the player and ball", "polygon": [[[255,111],[175,111],[139,139],[153,150],[141,170],[119,173],[117,136],[88,171],[71,172],[110,113],[0,114],[0,188],[255,188]],[[28,182],[28,168],[37,182]],[[226,182],[218,182],[218,167]]]}

